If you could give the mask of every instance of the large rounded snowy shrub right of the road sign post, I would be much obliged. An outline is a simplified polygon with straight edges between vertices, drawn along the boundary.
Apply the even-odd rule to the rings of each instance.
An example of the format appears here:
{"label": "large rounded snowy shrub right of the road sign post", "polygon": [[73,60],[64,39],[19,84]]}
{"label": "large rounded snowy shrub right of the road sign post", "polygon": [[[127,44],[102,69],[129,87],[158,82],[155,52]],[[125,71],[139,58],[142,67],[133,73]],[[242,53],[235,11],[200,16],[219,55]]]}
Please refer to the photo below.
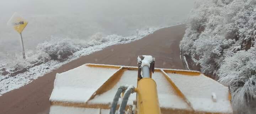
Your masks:
{"label": "large rounded snowy shrub right of the road sign post", "polygon": [[38,44],[37,52],[40,54],[38,59],[43,61],[52,60],[63,61],[78,51],[80,47],[76,45],[70,38],[52,38],[50,41]]}

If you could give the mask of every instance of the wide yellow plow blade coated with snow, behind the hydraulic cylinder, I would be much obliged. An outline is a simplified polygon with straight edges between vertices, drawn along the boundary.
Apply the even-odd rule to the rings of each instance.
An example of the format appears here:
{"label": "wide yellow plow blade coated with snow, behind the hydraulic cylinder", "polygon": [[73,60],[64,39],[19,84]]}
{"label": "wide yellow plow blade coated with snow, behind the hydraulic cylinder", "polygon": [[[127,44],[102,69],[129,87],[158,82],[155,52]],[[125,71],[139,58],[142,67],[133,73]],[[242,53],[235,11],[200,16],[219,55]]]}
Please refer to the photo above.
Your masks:
{"label": "wide yellow plow blade coated with snow, behind the hydraulic cylinder", "polygon": [[[137,76],[138,67],[100,64],[85,64],[56,74],[50,114],[109,114],[117,89],[121,85],[137,87]],[[200,72],[155,68],[152,79],[162,114],[233,113],[229,88]],[[117,107],[120,104],[121,100]],[[136,107],[134,93],[126,114],[136,114]]]}

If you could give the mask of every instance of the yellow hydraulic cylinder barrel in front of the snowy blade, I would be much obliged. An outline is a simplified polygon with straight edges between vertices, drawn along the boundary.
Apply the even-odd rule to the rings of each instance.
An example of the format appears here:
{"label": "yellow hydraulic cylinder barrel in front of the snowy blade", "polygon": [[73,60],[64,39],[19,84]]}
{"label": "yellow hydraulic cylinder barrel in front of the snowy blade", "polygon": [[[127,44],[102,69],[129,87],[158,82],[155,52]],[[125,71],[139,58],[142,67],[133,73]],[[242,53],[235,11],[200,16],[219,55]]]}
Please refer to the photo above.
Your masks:
{"label": "yellow hydraulic cylinder barrel in front of the snowy blade", "polygon": [[156,83],[151,78],[143,78],[137,85],[138,114],[161,114]]}

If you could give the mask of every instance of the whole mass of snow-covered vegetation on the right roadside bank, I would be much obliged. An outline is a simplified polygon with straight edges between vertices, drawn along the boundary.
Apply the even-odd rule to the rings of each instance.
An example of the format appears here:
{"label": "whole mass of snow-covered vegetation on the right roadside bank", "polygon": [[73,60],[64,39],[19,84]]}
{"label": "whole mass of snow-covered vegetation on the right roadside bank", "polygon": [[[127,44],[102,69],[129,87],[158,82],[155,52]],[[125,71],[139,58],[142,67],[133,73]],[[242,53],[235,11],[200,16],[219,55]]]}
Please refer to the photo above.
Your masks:
{"label": "whole mass of snow-covered vegetation on the right roadside bank", "polygon": [[[230,87],[234,110],[255,113],[256,1],[196,0],[182,54]],[[193,68],[192,68],[193,69]]]}

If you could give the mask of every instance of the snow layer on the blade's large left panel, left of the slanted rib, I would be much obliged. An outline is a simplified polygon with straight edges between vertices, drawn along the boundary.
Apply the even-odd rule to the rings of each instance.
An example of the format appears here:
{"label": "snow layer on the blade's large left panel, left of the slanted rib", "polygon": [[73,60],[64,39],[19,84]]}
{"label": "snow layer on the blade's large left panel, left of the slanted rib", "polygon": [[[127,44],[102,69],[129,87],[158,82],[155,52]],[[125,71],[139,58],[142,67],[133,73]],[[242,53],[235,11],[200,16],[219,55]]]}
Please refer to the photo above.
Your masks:
{"label": "snow layer on the blade's large left panel, left of the slanted rib", "polygon": [[[101,72],[97,72],[99,70]],[[118,69],[96,69],[82,65],[73,70],[56,74],[50,101],[86,102],[116,70]]]}

